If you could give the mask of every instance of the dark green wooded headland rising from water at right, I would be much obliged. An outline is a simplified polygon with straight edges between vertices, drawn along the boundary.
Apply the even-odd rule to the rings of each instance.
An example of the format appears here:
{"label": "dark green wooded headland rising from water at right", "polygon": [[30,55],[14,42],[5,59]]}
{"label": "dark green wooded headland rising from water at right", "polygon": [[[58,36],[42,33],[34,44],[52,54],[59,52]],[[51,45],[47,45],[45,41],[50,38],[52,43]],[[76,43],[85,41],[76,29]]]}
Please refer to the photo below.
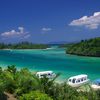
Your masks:
{"label": "dark green wooded headland rising from water at right", "polygon": [[66,53],[100,57],[100,38],[82,40],[80,43],[69,46]]}

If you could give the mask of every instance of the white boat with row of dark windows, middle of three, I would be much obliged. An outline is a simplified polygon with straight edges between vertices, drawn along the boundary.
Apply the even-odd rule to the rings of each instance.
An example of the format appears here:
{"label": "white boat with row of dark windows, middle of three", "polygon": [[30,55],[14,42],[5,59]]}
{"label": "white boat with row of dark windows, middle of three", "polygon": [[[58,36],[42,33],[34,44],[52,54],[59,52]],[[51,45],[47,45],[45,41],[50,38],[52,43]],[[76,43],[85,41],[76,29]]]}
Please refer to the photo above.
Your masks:
{"label": "white boat with row of dark windows, middle of three", "polygon": [[79,87],[81,85],[87,84],[88,82],[89,82],[88,76],[86,74],[81,74],[70,77],[67,81],[67,84],[72,87]]}

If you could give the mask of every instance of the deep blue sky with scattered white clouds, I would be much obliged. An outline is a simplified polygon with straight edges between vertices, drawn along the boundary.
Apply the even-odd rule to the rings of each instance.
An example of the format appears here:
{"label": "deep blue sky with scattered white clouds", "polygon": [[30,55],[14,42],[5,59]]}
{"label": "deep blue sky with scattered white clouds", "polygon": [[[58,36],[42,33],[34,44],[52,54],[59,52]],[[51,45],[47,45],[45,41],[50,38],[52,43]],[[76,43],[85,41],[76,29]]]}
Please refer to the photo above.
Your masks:
{"label": "deep blue sky with scattered white clouds", "polygon": [[100,37],[100,0],[0,0],[0,42]]}

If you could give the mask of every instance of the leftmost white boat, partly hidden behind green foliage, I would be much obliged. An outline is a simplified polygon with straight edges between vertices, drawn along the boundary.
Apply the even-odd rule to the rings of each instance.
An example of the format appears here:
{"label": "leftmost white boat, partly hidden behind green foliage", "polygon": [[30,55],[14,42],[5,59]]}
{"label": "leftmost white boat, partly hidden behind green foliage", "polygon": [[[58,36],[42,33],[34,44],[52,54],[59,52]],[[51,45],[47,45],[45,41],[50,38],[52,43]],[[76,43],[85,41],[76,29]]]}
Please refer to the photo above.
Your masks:
{"label": "leftmost white boat, partly hidden behind green foliage", "polygon": [[37,72],[36,76],[39,78],[47,77],[49,79],[52,79],[56,76],[56,74],[53,71],[42,71],[42,72]]}

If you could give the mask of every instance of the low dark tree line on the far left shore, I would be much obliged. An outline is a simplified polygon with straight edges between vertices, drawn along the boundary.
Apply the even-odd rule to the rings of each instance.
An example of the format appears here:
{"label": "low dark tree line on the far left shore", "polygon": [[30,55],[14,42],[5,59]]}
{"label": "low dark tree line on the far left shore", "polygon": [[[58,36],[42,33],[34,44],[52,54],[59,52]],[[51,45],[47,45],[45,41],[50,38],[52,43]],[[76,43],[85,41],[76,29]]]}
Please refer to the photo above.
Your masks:
{"label": "low dark tree line on the far left shore", "polygon": [[45,49],[48,45],[32,44],[29,42],[21,42],[18,44],[4,44],[0,43],[0,49]]}

